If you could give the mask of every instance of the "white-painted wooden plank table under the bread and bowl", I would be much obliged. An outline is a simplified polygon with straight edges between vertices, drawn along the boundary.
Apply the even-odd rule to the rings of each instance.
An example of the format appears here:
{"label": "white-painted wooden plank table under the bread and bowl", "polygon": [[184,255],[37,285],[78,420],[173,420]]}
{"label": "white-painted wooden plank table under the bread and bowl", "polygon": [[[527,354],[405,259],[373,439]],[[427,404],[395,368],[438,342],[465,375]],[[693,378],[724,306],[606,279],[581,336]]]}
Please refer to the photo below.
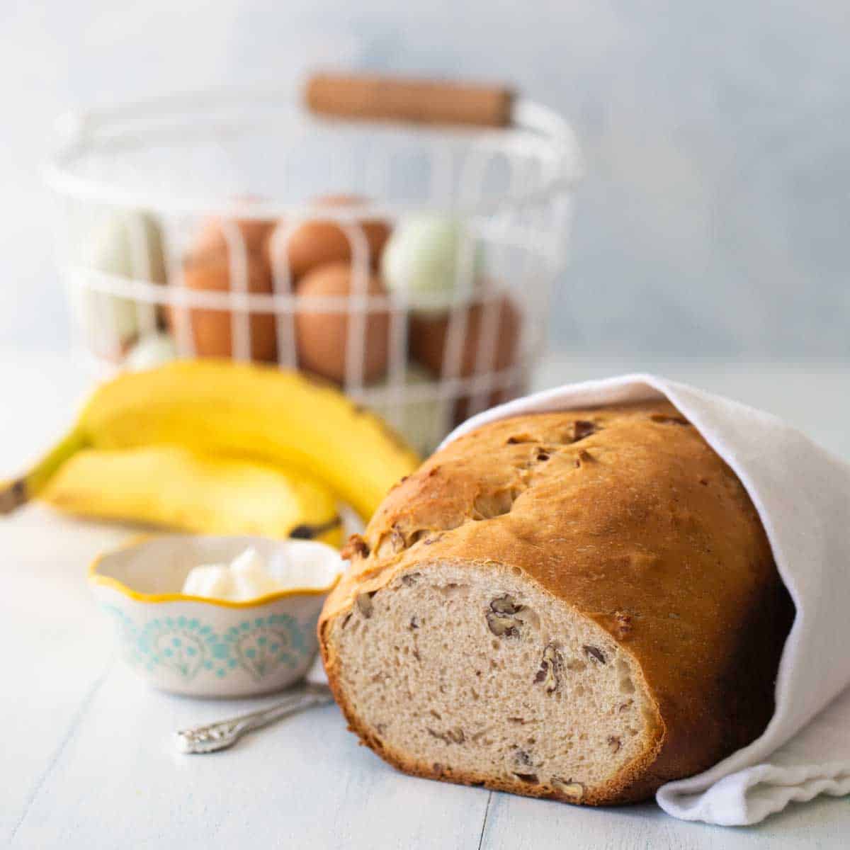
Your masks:
{"label": "white-painted wooden plank table under the bread and bowl", "polygon": [[[847,366],[640,364],[762,406],[850,457]],[[558,362],[541,384],[627,371]],[[0,477],[69,421],[86,378],[57,356],[0,352]],[[186,757],[176,728],[252,702],[150,691],[113,655],[84,581],[126,529],[28,507],[0,520],[0,843],[11,847],[839,848],[850,799],[794,806],[760,826],[668,818],[654,804],[575,808],[397,774],[326,706]]]}

